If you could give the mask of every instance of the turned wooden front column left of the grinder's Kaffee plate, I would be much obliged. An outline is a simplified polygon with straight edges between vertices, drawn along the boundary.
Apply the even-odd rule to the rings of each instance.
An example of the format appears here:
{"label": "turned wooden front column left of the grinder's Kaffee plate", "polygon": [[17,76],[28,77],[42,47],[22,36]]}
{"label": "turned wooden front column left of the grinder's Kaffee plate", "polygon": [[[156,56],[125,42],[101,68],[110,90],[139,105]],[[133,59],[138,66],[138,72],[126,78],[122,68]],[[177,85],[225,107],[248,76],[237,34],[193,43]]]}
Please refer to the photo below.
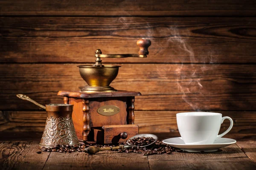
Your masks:
{"label": "turned wooden front column left of the grinder's Kaffee plate", "polygon": [[89,141],[89,133],[91,130],[90,127],[90,107],[89,107],[89,100],[82,100],[83,103],[83,122],[84,122],[84,127],[83,127],[83,141]]}

